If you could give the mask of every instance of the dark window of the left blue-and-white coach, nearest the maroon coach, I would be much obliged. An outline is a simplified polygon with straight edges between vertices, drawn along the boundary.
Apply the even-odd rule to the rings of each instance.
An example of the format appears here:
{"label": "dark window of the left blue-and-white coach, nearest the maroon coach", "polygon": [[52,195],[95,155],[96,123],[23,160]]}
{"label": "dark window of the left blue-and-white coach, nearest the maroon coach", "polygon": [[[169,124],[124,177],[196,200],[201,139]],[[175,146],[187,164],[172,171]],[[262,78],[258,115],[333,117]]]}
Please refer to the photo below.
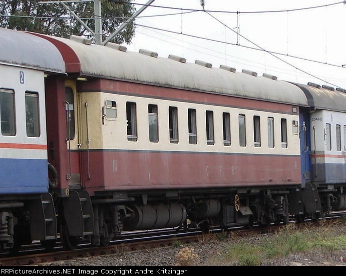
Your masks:
{"label": "dark window of the left blue-and-white coach, nearest the maroon coach", "polygon": [[39,94],[25,93],[25,117],[28,137],[40,136]]}

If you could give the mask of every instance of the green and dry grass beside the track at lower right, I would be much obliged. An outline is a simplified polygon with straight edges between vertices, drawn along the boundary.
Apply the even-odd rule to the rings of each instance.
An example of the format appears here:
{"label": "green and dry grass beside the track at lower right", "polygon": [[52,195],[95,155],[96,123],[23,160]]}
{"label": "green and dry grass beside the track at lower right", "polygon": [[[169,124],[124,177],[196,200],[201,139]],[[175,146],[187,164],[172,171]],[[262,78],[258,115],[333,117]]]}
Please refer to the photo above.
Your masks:
{"label": "green and dry grass beside the track at lower right", "polygon": [[[346,249],[346,217],[331,223],[321,220],[318,226],[315,223],[289,223],[273,234],[244,238],[220,233],[216,238],[232,239],[233,242],[218,255],[210,257],[209,265],[266,265],[271,260],[290,255],[332,254]],[[177,259],[179,265],[196,265],[198,255],[193,249],[183,247]]]}

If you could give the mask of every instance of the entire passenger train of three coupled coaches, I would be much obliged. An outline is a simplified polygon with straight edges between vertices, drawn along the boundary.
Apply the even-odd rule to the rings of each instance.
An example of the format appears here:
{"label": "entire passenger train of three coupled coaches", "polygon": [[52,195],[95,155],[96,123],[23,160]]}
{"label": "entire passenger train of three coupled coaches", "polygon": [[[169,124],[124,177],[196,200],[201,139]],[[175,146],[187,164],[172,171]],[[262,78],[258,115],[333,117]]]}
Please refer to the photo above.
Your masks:
{"label": "entire passenger train of three coupled coaches", "polygon": [[3,247],[346,208],[342,89],[76,36],[0,37]]}

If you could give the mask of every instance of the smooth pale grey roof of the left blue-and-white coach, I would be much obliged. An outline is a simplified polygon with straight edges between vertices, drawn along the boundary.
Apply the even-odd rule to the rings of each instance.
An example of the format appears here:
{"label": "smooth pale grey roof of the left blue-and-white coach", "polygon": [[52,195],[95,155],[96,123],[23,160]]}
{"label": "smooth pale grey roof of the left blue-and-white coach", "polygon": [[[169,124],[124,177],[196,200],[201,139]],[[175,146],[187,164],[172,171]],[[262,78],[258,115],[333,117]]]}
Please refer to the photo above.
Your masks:
{"label": "smooth pale grey roof of the left blue-and-white coach", "polygon": [[0,28],[0,64],[65,73],[63,57],[53,44],[25,32],[5,28]]}

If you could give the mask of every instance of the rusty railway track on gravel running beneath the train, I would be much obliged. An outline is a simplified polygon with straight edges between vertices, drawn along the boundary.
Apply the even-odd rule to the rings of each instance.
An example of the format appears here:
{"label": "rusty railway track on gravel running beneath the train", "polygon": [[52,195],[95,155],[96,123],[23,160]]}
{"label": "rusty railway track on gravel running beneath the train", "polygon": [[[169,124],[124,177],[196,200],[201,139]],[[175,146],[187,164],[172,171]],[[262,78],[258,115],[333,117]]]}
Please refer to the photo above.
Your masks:
{"label": "rusty railway track on gravel running beneath the train", "polygon": [[[325,222],[333,222],[344,216],[343,212],[334,212],[329,214],[323,219]],[[291,221],[294,223],[295,221]],[[306,220],[305,222],[311,222]],[[319,221],[315,221],[318,225]],[[275,232],[283,225],[270,225],[268,227],[260,227],[259,225],[253,225],[251,229],[245,229],[242,227],[228,228],[227,233],[235,233],[238,236],[241,235],[255,235]],[[2,266],[21,266],[21,265],[39,265],[40,263],[54,263],[64,261],[67,259],[76,259],[97,255],[121,253],[125,251],[135,251],[143,249],[153,249],[157,247],[174,246],[174,243],[188,244],[198,242],[204,239],[206,235],[215,235],[224,231],[225,229],[213,228],[210,233],[205,234],[200,230],[182,231],[179,229],[165,229],[164,231],[149,230],[138,231],[131,233],[124,233],[121,239],[114,240],[109,246],[104,247],[90,247],[89,243],[80,244],[75,250],[64,250],[61,243],[57,243],[57,246],[53,251],[47,252],[41,247],[40,242],[33,242],[30,246],[23,246],[21,251],[11,256],[9,252],[0,255],[0,265]]]}

